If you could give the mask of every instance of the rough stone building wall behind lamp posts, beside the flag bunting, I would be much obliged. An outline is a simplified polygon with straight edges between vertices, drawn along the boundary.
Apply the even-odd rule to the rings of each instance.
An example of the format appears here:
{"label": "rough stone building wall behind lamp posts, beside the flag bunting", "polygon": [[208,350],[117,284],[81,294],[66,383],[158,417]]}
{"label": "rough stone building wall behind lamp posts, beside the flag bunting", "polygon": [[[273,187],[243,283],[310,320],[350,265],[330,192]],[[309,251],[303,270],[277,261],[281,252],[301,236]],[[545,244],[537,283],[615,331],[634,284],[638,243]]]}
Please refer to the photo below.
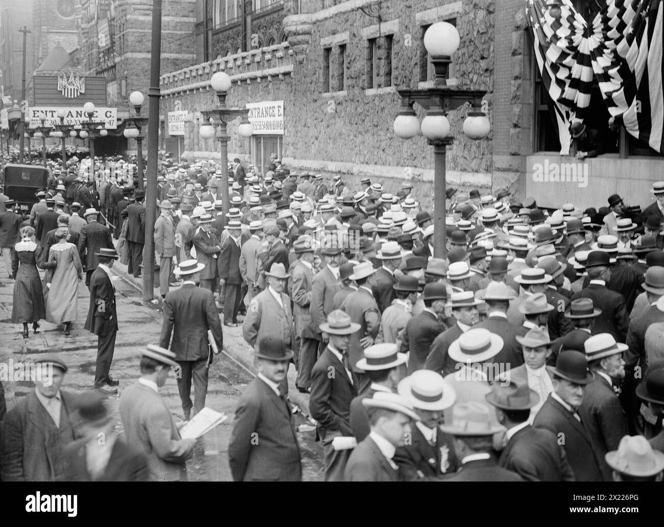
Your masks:
{"label": "rough stone building wall behind lamp posts, beside the flag bunting", "polygon": [[[210,0],[207,6],[228,7],[228,1]],[[574,2],[579,9],[586,3]],[[250,17],[256,0],[246,4],[245,15]],[[406,4],[286,0],[271,9],[272,17],[279,13],[282,19],[286,41],[265,47],[264,41],[254,39],[256,45],[251,47],[254,35],[245,25],[238,45],[242,52],[232,53],[238,29],[237,21],[229,18],[218,27],[212,25],[214,38],[207,39],[205,53],[197,54],[199,58],[215,56],[214,60],[190,64],[161,78],[163,116],[181,109],[197,118],[199,112],[214,108],[216,97],[209,79],[219,70],[232,79],[229,106],[283,100],[283,136],[255,135],[245,140],[236,134],[239,121],[228,127],[229,156],[245,159],[259,171],[269,157],[267,144],[278,149],[276,153],[294,169],[341,173],[355,187],[369,175],[396,190],[409,177],[429,206],[433,148],[422,136],[397,138],[392,123],[400,107],[397,90],[422,88],[431,82],[432,68],[422,42],[426,27],[450,21],[461,43],[452,57],[448,82],[486,91],[483,109],[491,132],[483,140],[470,140],[462,132],[469,106],[450,112],[454,143],[446,159],[448,185],[481,191],[507,187],[517,198],[533,195],[542,205],[559,205],[562,199],[587,207],[601,205],[602,196],[612,191],[627,194],[638,189],[639,195],[648,196],[649,182],[661,179],[657,176],[661,158],[600,156],[586,161],[592,174],[587,188],[533,184],[535,163],[544,158],[558,163],[569,159],[560,158],[542,141],[551,132],[545,128],[546,100],[533,64],[523,0],[413,0]],[[270,31],[278,35],[274,27]],[[215,48],[226,34],[232,37],[230,47]],[[422,117],[421,108],[415,108]],[[200,124],[201,120],[194,120],[185,127],[185,156],[218,158],[218,144],[199,138]],[[621,180],[627,174],[625,186]]]}

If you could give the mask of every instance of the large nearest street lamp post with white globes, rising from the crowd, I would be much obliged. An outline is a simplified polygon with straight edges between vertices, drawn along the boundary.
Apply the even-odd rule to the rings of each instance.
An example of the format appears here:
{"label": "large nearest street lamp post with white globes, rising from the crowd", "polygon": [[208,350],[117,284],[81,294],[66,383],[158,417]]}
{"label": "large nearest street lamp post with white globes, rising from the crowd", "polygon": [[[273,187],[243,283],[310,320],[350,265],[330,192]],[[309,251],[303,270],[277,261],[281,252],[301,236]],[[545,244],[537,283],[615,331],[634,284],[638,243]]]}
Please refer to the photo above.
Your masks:
{"label": "large nearest street lamp post with white globes, rising from the crowd", "polygon": [[[448,22],[436,22],[424,33],[424,47],[431,56],[436,78],[431,88],[422,90],[398,90],[402,106],[394,119],[394,134],[402,139],[411,139],[420,134],[434,147],[434,257],[446,256],[446,165],[447,147],[453,142],[447,113],[463,104],[473,108],[463,123],[463,132],[471,139],[481,139],[489,133],[489,120],[481,112],[481,100],[485,90],[461,90],[450,88],[447,74],[450,58],[459,47],[459,33]],[[418,103],[426,116],[422,124],[412,108]]]}

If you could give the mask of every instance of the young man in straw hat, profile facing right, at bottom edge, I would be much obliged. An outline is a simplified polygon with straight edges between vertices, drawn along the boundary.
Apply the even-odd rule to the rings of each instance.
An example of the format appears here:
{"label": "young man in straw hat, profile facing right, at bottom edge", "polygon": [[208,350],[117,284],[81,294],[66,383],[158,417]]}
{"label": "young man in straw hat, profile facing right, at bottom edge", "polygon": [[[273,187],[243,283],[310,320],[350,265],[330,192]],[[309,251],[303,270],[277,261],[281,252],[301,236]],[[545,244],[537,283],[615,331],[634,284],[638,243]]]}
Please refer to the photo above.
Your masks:
{"label": "young man in straw hat, profile facing right, at bottom edge", "polygon": [[392,458],[410,434],[410,423],[420,418],[410,402],[396,393],[377,391],[362,404],[367,408],[371,432],[351,453],[344,480],[399,481],[398,465]]}

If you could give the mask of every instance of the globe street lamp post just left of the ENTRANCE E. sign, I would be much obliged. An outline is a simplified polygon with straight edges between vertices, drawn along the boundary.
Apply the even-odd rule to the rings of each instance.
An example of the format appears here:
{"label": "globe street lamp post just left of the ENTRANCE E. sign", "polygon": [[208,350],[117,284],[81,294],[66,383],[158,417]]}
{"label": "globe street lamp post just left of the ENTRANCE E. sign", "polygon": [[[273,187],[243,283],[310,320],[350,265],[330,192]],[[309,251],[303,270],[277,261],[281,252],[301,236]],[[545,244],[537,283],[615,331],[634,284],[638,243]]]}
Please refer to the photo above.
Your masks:
{"label": "globe street lamp post just left of the ENTRANCE E. sign", "polygon": [[219,107],[214,110],[208,110],[203,116],[210,124],[204,124],[199,130],[199,135],[203,139],[214,137],[214,126],[219,127],[219,133],[216,139],[219,142],[221,154],[221,200],[224,214],[230,209],[230,198],[228,197],[228,140],[230,136],[226,132],[226,125],[232,120],[241,117],[242,122],[238,128],[238,134],[242,137],[251,137],[254,133],[254,127],[248,120],[248,110],[246,108],[228,108],[226,106],[226,96],[230,90],[232,82],[228,74],[218,71],[210,78],[212,90],[216,92],[219,100]]}

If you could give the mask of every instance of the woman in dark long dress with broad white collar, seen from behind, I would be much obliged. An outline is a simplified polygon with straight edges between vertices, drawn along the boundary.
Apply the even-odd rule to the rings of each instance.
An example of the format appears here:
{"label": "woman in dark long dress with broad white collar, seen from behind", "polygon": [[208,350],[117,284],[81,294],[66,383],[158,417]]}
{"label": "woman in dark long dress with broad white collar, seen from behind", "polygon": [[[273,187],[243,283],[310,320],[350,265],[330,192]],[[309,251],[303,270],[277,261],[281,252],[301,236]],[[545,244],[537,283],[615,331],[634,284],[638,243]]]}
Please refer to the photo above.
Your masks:
{"label": "woman in dark long dress with broad white collar, seen from behind", "polygon": [[28,338],[28,324],[33,323],[37,333],[39,320],[44,318],[44,294],[37,262],[41,259],[41,248],[35,243],[35,229],[23,227],[21,241],[11,251],[11,271],[14,282],[14,298],[11,306],[11,321],[23,324],[23,338]]}

